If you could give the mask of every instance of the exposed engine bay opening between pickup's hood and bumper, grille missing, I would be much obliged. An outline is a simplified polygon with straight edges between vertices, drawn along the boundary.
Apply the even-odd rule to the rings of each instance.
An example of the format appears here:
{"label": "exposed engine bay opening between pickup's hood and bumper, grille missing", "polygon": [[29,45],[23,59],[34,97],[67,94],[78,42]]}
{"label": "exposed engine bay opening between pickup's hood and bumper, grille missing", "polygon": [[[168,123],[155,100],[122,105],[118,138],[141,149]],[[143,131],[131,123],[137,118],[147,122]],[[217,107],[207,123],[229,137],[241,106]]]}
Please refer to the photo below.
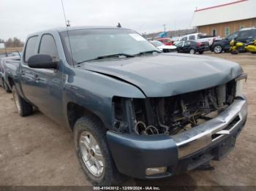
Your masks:
{"label": "exposed engine bay opening between pickup's hood and bumper, grille missing", "polygon": [[[236,82],[165,98],[113,99],[113,124],[122,133],[174,135],[211,120],[233,103]],[[132,128],[129,128],[132,127]]]}

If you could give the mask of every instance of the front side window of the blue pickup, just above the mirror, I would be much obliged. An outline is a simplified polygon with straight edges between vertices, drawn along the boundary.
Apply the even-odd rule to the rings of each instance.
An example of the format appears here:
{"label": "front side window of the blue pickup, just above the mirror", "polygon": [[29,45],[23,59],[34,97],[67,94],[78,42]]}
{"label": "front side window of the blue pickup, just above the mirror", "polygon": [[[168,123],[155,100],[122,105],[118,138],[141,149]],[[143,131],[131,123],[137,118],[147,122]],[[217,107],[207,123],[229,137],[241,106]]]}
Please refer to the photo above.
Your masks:
{"label": "front side window of the blue pickup, just above the mirror", "polygon": [[44,34],[42,36],[39,54],[50,55],[53,61],[59,61],[58,49],[52,35]]}

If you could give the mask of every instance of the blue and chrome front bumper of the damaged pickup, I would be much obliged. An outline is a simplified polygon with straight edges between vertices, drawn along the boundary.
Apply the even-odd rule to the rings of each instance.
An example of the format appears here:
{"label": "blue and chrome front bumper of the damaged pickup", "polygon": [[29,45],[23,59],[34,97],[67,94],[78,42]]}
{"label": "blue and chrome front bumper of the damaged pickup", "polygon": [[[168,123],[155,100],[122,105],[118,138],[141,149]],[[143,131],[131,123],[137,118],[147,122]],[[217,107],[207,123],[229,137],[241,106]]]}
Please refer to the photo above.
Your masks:
{"label": "blue and chrome front bumper of the damaged pickup", "polygon": [[[227,155],[244,128],[246,115],[245,98],[236,98],[218,117],[175,136],[137,136],[108,131],[107,139],[122,174],[139,179],[163,178]],[[167,167],[165,174],[146,176],[146,168],[163,166]]]}

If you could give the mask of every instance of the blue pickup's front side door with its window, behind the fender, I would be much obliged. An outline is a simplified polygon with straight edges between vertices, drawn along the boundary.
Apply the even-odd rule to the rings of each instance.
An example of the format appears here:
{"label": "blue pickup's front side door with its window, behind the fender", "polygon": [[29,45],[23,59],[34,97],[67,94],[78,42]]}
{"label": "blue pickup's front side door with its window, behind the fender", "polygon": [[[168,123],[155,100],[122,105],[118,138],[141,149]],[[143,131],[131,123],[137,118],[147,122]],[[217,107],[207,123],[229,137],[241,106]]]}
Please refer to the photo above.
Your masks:
{"label": "blue pickup's front side door with its window, behind the fender", "polygon": [[[39,54],[50,55],[53,61],[59,61],[59,52],[51,34],[43,34],[39,42]],[[59,62],[60,64],[61,62]],[[54,120],[62,120],[62,71],[58,69],[34,70],[34,97],[40,111]]]}

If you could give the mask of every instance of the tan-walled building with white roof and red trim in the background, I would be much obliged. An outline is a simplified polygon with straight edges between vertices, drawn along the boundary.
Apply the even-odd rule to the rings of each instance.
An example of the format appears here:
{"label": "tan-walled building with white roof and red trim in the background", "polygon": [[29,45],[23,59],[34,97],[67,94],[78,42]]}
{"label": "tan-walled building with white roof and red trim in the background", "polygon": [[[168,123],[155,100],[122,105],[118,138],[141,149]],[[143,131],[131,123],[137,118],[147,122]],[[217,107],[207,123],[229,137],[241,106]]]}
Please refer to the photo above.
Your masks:
{"label": "tan-walled building with white roof and red trim in the background", "polygon": [[241,28],[256,27],[256,0],[240,0],[196,9],[192,26],[200,33],[221,37]]}

